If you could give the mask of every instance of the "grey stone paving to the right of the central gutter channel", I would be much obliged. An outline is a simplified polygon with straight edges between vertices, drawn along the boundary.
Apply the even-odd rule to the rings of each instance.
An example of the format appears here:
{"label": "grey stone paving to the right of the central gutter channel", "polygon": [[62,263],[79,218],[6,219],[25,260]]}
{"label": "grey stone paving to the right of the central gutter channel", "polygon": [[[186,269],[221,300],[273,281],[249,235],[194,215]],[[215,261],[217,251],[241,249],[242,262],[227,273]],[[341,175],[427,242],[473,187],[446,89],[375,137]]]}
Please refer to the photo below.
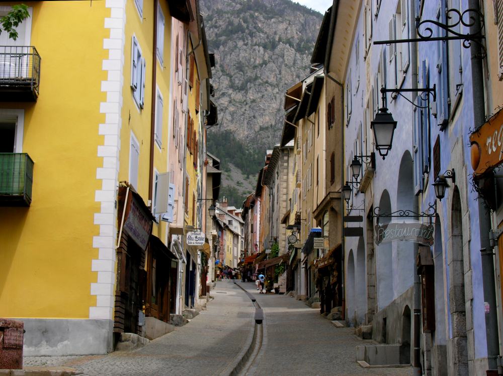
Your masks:
{"label": "grey stone paving to the right of the central gutter channel", "polygon": [[240,283],[264,310],[262,348],[247,374],[412,375],[412,368],[362,368],[356,346],[369,343],[354,328],[336,328],[319,310],[285,295],[259,294],[255,283]]}

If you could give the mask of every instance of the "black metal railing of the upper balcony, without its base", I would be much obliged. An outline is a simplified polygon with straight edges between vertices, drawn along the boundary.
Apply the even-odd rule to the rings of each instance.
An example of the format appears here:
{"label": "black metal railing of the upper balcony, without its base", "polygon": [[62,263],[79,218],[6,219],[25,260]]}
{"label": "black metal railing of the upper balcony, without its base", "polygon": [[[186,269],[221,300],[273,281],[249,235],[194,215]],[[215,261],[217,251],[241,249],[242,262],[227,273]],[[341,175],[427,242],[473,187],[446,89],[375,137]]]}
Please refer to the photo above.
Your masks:
{"label": "black metal railing of the upper balcony, without its base", "polygon": [[33,46],[0,46],[0,86],[30,85],[38,95],[40,60]]}

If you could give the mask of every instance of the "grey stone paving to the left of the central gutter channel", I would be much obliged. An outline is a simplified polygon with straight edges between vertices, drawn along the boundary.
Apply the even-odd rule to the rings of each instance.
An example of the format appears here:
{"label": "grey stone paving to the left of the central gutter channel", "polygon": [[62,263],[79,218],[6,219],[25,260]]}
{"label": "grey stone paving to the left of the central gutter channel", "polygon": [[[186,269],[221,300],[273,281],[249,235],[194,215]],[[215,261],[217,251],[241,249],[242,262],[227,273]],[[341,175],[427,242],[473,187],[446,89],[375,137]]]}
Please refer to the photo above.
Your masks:
{"label": "grey stone paving to the left of the central gutter channel", "polygon": [[211,375],[229,373],[251,341],[255,309],[232,281],[219,281],[214,297],[191,322],[133,351],[108,355],[25,357],[24,366],[69,366],[85,375]]}

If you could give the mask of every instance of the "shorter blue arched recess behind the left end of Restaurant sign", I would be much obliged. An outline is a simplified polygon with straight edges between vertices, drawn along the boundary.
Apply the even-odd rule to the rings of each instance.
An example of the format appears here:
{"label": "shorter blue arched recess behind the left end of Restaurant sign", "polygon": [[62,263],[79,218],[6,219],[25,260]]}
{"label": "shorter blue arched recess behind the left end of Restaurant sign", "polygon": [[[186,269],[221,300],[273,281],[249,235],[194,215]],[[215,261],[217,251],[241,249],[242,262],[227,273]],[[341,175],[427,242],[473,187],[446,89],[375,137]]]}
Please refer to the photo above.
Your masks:
{"label": "shorter blue arched recess behind the left end of Restaurant sign", "polygon": [[[381,194],[379,212],[391,212],[391,201],[387,190],[384,190]],[[381,224],[385,224],[390,222],[390,219],[391,218],[381,217],[379,221]],[[393,300],[393,258],[391,243],[379,244],[376,254],[377,307],[381,310]]]}

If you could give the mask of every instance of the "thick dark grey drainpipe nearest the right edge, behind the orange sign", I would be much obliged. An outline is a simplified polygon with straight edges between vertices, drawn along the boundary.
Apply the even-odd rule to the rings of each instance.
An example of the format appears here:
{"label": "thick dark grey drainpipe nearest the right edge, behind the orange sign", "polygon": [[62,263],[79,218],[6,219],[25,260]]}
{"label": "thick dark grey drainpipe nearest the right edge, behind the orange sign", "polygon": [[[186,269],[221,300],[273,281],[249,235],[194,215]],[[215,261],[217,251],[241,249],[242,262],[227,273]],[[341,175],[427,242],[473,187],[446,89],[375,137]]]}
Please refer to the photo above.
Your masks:
{"label": "thick dark grey drainpipe nearest the right edge, behind the orange sign", "polygon": [[[480,12],[479,0],[469,0],[468,8]],[[470,26],[470,33],[477,33],[480,30],[480,20],[473,18]],[[478,127],[485,122],[485,102],[484,102],[484,76],[482,65],[482,51],[478,43],[472,43],[471,52],[471,82],[473,98],[473,120],[474,126]],[[482,284],[484,291],[484,302],[489,304],[489,312],[485,314],[485,333],[487,342],[487,364],[489,369],[497,369],[499,359],[499,338],[496,316],[496,291],[494,286],[494,255],[490,242],[490,216],[484,205],[484,200],[477,198],[480,233],[480,252],[482,261]]]}

